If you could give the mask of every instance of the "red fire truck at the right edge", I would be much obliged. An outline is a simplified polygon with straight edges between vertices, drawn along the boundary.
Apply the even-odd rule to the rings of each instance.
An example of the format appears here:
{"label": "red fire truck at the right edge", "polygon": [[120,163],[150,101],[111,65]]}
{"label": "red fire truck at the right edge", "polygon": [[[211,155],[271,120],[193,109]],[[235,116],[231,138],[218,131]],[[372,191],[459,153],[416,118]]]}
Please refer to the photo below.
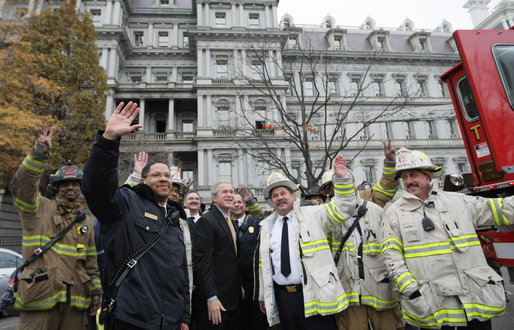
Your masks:
{"label": "red fire truck at the right edge", "polygon": [[[441,79],[451,94],[472,173],[447,175],[444,189],[484,197],[514,195],[514,29],[453,35],[461,62]],[[486,257],[500,265],[514,266],[510,227],[478,232]]]}

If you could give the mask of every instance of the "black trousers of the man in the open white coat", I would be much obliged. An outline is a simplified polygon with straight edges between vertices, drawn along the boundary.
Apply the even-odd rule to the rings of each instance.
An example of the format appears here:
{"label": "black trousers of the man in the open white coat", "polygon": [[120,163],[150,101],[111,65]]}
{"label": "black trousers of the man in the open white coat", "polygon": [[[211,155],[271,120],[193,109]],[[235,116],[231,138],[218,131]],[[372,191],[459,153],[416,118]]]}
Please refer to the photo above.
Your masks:
{"label": "black trousers of the man in the open white coat", "polygon": [[274,285],[275,298],[282,330],[334,330],[334,315],[305,317],[302,285],[291,292],[284,286]]}

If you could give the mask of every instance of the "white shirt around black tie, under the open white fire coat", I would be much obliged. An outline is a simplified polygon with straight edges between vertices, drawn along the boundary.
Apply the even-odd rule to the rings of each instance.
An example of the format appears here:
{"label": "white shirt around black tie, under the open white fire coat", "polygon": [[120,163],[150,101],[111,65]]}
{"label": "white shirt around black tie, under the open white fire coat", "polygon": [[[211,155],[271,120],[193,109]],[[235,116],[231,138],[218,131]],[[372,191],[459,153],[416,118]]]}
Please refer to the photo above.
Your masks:
{"label": "white shirt around black tie, under the open white fire coat", "polygon": [[285,217],[288,220],[288,236],[289,236],[289,256],[291,260],[291,274],[287,277],[282,275],[280,268],[280,246],[282,241],[282,226],[283,226],[283,216],[278,216],[275,220],[275,224],[273,225],[273,231],[271,232],[270,237],[270,252],[271,252],[271,262],[273,264],[273,281],[278,285],[292,285],[292,284],[300,284],[302,283],[302,279],[300,277],[300,265],[298,264],[298,246],[296,245],[297,240],[293,238],[293,220],[292,220],[293,211],[289,212]]}

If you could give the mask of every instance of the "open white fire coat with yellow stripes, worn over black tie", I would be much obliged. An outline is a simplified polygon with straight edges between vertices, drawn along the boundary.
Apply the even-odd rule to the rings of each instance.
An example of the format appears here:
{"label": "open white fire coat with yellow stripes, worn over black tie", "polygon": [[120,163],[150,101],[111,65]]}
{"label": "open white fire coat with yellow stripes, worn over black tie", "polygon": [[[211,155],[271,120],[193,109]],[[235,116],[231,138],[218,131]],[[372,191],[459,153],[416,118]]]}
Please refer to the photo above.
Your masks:
{"label": "open white fire coat with yellow stripes, worn over black tie", "polygon": [[[351,179],[336,179],[335,193],[336,197],[329,204],[300,207],[297,200],[293,207],[294,244],[301,249],[298,264],[302,268],[305,317],[334,314],[349,304],[349,297],[344,293],[337,275],[326,232],[340,226],[348,218],[345,211],[355,203]],[[277,216],[274,212],[261,221],[259,246],[259,300],[265,302],[270,325],[280,322],[269,251],[269,238]]]}

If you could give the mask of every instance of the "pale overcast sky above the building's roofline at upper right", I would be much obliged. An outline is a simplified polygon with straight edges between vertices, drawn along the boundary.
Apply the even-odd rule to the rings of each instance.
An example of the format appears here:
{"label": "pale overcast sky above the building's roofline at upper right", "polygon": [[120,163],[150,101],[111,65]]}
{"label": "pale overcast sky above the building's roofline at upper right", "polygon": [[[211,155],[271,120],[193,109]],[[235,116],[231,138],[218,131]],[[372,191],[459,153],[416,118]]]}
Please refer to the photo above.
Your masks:
{"label": "pale overcast sky above the building's roofline at upper right", "polygon": [[[501,0],[491,0],[491,11]],[[280,0],[278,18],[288,13],[294,23],[320,25],[325,16],[332,16],[336,25],[360,26],[366,17],[375,20],[377,27],[397,28],[405,18],[414,28],[432,30],[445,19],[453,29],[471,29],[467,0]]]}

